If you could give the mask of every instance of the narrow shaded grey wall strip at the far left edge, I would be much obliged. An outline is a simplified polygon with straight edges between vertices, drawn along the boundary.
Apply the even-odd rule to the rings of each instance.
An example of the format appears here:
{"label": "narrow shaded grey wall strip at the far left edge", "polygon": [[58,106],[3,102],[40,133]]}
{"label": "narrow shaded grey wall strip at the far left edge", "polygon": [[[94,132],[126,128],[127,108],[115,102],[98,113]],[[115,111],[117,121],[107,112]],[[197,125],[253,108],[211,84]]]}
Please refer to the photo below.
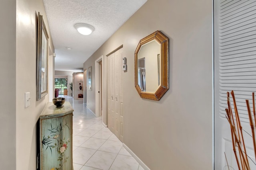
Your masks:
{"label": "narrow shaded grey wall strip at the far left edge", "polygon": [[[16,169],[16,1],[0,0],[0,167]],[[18,141],[18,140],[17,140]]]}

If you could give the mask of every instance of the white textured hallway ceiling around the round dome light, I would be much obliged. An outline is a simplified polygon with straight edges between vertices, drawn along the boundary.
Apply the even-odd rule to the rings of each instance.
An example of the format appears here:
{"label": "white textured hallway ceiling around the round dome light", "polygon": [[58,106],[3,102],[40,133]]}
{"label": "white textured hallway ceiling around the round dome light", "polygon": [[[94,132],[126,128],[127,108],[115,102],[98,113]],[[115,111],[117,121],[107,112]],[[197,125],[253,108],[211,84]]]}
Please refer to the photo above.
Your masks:
{"label": "white textured hallway ceiling around the round dome light", "polygon": [[[56,53],[55,70],[81,71],[83,63],[146,1],[43,0]],[[74,28],[76,23],[88,23],[95,30],[82,35]]]}

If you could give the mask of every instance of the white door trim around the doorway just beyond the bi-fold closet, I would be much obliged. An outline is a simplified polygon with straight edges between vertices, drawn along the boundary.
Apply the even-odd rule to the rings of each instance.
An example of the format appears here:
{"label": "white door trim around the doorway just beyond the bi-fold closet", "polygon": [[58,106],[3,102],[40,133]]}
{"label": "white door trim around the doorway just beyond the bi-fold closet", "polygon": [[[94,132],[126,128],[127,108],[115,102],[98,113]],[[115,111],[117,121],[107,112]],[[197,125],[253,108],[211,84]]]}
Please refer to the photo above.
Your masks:
{"label": "white door trim around the doorway just beyond the bi-fold closet", "polygon": [[[100,116],[100,95],[98,92],[100,91],[100,82],[99,82],[99,62],[102,61],[102,56],[95,60],[95,115],[96,117]],[[103,113],[102,113],[103,114]]]}

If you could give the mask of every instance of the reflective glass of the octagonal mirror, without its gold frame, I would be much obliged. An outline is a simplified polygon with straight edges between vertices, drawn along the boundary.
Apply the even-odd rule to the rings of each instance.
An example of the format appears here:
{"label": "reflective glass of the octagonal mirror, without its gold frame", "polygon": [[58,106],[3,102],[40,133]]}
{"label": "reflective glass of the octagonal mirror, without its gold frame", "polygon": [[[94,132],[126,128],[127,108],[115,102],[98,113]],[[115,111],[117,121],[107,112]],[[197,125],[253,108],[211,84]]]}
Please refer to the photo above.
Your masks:
{"label": "reflective glass of the octagonal mirror, without its gold frame", "polygon": [[142,45],[138,52],[138,86],[142,92],[155,92],[160,85],[161,45],[155,39]]}

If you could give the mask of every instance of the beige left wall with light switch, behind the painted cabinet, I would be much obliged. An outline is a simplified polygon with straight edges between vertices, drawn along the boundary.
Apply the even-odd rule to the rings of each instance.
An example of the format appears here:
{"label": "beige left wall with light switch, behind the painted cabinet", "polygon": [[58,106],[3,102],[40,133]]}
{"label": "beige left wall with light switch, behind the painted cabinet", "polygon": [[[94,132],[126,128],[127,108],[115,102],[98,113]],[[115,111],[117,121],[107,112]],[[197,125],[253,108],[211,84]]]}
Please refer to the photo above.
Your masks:
{"label": "beige left wall with light switch, behind the painted cabinet", "polygon": [[[42,0],[16,1],[16,170],[36,168],[36,122],[46,102],[49,101],[48,94],[36,102],[36,14],[38,12],[43,16],[50,35]],[[51,36],[49,46],[54,53]],[[49,74],[53,73],[49,72]],[[30,106],[27,108],[24,108],[25,92],[30,92],[31,98]]]}

